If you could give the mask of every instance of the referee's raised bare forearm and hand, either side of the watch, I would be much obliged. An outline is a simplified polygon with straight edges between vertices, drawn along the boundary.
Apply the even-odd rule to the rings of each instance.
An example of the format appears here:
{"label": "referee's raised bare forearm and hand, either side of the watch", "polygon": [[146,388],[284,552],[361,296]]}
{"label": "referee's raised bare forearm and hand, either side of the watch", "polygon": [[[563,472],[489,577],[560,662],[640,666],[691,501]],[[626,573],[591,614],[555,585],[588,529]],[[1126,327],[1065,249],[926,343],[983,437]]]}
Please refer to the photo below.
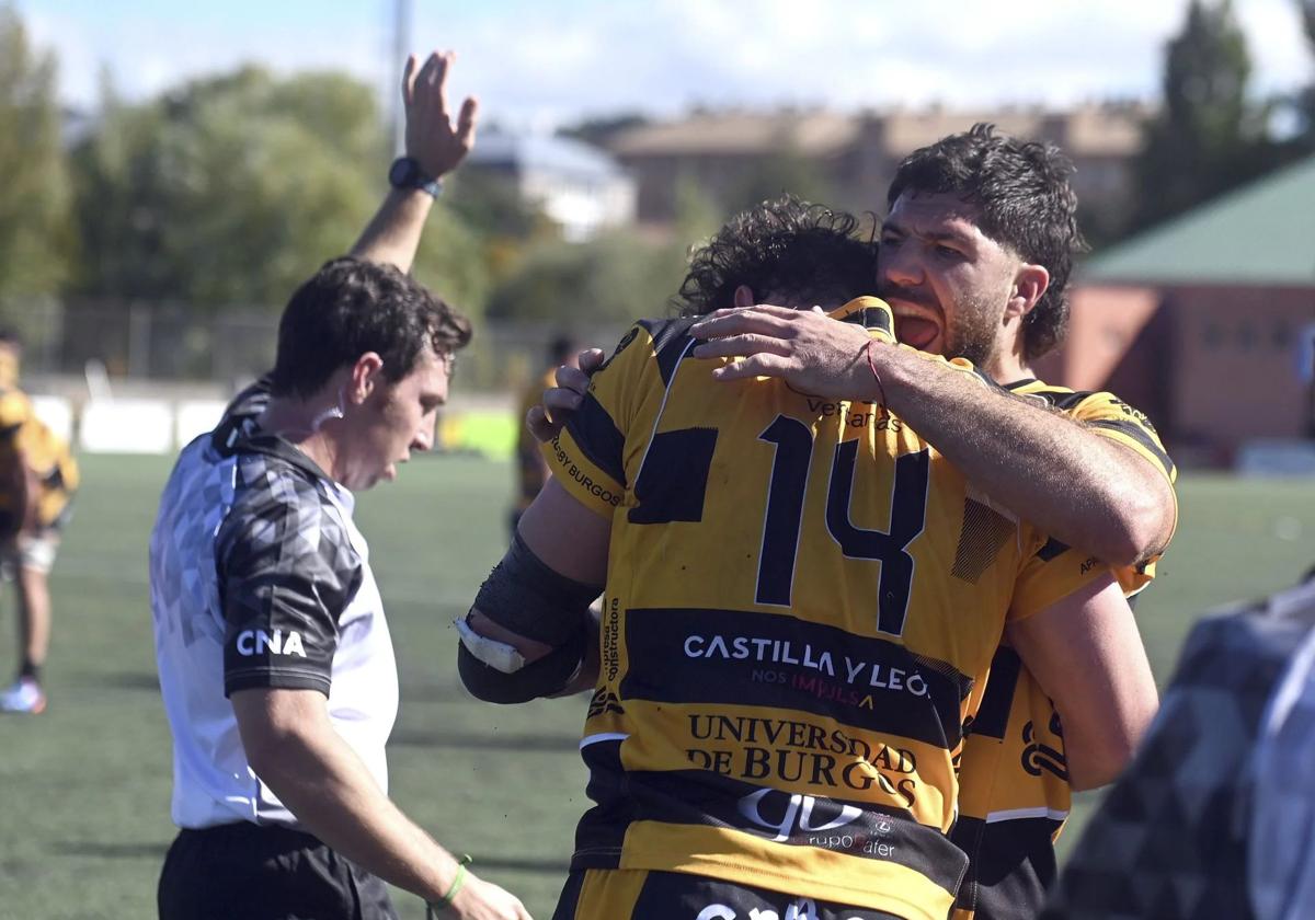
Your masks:
{"label": "referee's raised bare forearm and hand, either side of the watch", "polygon": [[[435,51],[417,72],[412,55],[406,59],[402,76],[406,155],[434,179],[455,170],[475,145],[477,103],[469,97],[462,103],[455,127],[447,112],[447,71],[455,57],[451,51]],[[391,188],[360,239],[351,247],[351,255],[409,272],[433,205],[433,196],[423,189]]]}

